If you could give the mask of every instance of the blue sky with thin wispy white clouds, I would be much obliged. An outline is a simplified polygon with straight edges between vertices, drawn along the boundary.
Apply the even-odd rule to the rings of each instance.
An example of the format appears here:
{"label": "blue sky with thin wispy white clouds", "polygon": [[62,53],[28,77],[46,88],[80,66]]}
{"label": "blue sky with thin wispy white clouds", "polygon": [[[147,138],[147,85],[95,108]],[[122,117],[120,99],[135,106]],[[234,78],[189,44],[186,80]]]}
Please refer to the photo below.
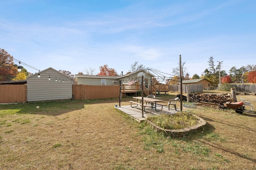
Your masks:
{"label": "blue sky with thin wispy white clouds", "polygon": [[108,64],[126,74],[138,61],[172,74],[182,55],[192,77],[211,56],[226,72],[256,64],[255,0],[0,2],[0,48],[39,70],[99,73]]}

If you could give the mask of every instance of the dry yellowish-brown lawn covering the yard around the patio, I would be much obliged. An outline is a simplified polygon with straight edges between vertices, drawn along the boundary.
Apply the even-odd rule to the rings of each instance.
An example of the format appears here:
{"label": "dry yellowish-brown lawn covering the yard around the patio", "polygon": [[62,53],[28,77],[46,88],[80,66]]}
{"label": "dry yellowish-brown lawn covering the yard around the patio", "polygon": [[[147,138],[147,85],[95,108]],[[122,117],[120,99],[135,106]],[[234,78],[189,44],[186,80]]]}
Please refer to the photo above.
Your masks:
{"label": "dry yellowish-brown lawn covering the yard around the patio", "polygon": [[[167,102],[175,95],[157,97]],[[118,99],[0,105],[0,169],[256,169],[255,114],[184,108],[207,125],[172,137],[115,104]]]}

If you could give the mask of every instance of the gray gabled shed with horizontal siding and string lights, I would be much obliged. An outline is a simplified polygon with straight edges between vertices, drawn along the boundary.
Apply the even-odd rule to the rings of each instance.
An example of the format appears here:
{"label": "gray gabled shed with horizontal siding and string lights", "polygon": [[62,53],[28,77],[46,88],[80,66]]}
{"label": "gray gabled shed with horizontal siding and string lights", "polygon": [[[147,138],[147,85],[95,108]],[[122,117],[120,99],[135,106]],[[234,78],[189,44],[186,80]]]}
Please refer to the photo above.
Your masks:
{"label": "gray gabled shed with horizontal siding and string lights", "polygon": [[27,77],[27,102],[70,99],[72,84],[72,78],[47,68]]}

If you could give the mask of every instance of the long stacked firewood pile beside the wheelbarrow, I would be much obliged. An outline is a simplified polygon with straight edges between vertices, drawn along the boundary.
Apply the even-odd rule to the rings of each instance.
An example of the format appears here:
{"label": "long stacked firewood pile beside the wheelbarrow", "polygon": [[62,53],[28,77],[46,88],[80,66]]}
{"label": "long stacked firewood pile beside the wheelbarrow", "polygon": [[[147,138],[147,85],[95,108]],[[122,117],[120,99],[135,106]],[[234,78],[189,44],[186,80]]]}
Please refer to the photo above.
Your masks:
{"label": "long stacked firewood pile beside the wheelbarrow", "polygon": [[223,105],[223,103],[232,102],[232,98],[230,94],[190,94],[189,102],[208,102]]}

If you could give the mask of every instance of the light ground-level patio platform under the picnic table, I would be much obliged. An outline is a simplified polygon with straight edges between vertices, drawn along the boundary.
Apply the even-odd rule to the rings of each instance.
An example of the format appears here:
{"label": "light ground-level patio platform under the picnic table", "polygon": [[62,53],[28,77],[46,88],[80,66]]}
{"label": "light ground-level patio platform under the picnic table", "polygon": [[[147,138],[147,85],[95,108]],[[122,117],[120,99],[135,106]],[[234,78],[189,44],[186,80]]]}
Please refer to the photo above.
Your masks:
{"label": "light ground-level patio platform under the picnic table", "polygon": [[[163,107],[162,111],[156,111],[155,109],[153,109],[152,112],[149,112],[149,113],[144,112],[144,114],[143,114],[144,117],[142,117],[142,111],[141,111],[140,106],[132,108],[130,105],[126,105],[126,106],[121,106],[121,107],[117,106],[115,108],[122,111],[123,113],[126,113],[127,115],[130,115],[138,122],[144,121],[150,115],[174,114],[174,113],[177,113],[177,111],[179,111],[178,109],[177,109],[177,111],[175,111],[175,109],[173,107],[170,107],[170,111],[169,111],[168,106],[165,106],[165,107]],[[157,110],[161,109],[161,106],[157,106],[156,109]]]}

